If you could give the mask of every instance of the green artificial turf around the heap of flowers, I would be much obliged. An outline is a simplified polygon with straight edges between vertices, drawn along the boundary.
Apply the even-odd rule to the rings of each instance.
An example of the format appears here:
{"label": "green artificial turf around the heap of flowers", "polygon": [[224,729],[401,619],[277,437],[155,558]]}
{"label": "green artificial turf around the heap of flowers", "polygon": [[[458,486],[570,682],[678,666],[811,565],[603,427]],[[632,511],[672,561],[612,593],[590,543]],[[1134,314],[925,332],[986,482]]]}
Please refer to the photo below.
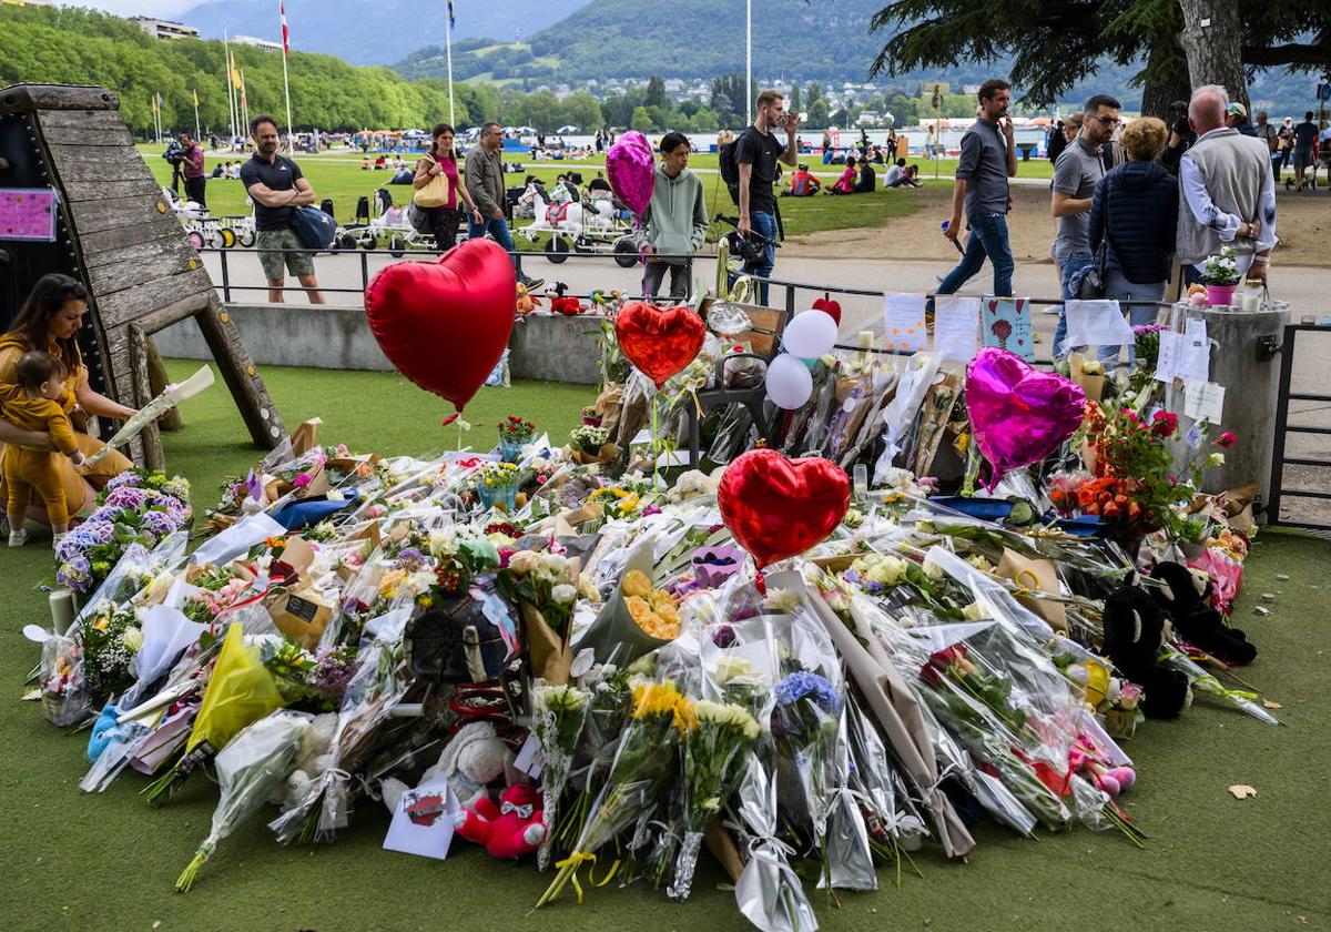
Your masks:
{"label": "green artificial turf around the heap of flowers", "polygon": [[[173,378],[197,363],[173,361]],[[426,454],[455,446],[441,429],[446,405],[391,374],[265,369],[269,389],[294,426],[323,418],[321,439],[385,454]],[[483,389],[467,409],[475,446],[494,439],[503,414],[531,417],[559,438],[590,403],[590,387],[520,383]],[[214,499],[224,475],[261,453],[249,446],[230,398],[218,387],[184,410],[185,429],[166,435],[169,465],[194,483],[197,509]],[[590,888],[578,905],[568,891],[527,916],[548,876],[531,863],[490,860],[457,841],[446,863],[381,848],[387,817],[362,802],[350,831],[330,845],[284,848],[264,819],[225,840],[190,893],[173,883],[208,833],[216,788],[194,778],[161,810],[122,776],[101,796],[81,794],[87,734],[65,736],[36,703],[21,703],[37,648],[20,628],[45,619],[35,588],[51,571],[48,538],[0,551],[0,915],[8,929],[699,929],[751,928],[719,871],[703,859],[684,904],[644,887]],[[1270,531],[1254,545],[1236,624],[1259,646],[1242,675],[1280,703],[1274,728],[1201,700],[1177,722],[1149,722],[1126,750],[1138,783],[1125,807],[1150,835],[1139,851],[1117,833],[1077,828],[1021,840],[1000,828],[976,829],[968,864],[949,864],[934,845],[916,855],[924,877],[880,873],[877,893],[841,893],[841,908],[811,889],[824,929],[944,929],[1041,932],[1087,929],[1266,932],[1331,928],[1326,865],[1331,795],[1331,636],[1326,574],[1331,546]],[[1278,579],[1278,574],[1290,577]],[[1254,615],[1263,592],[1270,616]],[[1227,788],[1248,784],[1238,800]],[[596,876],[608,864],[598,865]]]}

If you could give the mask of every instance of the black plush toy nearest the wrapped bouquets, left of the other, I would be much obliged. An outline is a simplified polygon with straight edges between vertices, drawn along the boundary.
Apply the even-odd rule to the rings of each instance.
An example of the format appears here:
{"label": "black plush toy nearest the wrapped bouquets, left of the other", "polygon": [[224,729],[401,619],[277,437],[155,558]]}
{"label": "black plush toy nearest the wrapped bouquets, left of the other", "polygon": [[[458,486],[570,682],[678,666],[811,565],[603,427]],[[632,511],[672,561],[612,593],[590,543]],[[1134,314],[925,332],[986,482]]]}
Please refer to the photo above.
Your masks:
{"label": "black plush toy nearest the wrapped bouquets, left of the other", "polygon": [[1123,586],[1105,599],[1105,656],[1123,676],[1142,687],[1142,712],[1173,719],[1193,703],[1187,674],[1159,662],[1165,615],[1137,586]]}

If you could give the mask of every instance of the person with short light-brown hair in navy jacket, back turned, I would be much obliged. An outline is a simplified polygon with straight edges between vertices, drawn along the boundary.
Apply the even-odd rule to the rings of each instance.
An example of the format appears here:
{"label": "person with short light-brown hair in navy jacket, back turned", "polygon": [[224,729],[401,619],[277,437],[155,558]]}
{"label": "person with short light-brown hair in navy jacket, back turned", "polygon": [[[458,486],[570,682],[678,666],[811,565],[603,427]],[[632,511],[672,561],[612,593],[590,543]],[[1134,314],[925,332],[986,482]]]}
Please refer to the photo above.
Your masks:
{"label": "person with short light-brown hair in navy jacket, back turned", "polygon": [[[1127,161],[1095,185],[1090,248],[1095,252],[1102,240],[1109,240],[1106,298],[1126,302],[1165,297],[1178,226],[1178,178],[1155,162],[1167,138],[1163,121],[1133,120],[1122,136]],[[1129,310],[1133,326],[1155,322],[1154,306]]]}

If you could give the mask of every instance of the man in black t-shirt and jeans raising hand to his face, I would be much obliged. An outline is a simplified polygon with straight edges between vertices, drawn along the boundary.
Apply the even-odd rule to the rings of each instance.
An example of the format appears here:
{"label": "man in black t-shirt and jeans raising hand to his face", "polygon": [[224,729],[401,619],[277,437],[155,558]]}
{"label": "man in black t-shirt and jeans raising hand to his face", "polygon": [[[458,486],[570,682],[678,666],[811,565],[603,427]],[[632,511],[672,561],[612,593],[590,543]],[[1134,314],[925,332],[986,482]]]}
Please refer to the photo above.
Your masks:
{"label": "man in black t-shirt and jeans raising hand to his face", "polygon": [[[735,142],[735,161],[740,172],[740,236],[752,230],[768,240],[763,257],[756,264],[745,264],[745,274],[757,278],[771,278],[776,268],[776,162],[783,161],[792,168],[799,162],[795,133],[800,128],[800,116],[785,112],[785,97],[780,91],[764,91],[755,101],[757,116],[753,125],[740,133]],[[785,129],[783,146],[775,129]],[[759,284],[759,301],[767,304],[767,284]]]}

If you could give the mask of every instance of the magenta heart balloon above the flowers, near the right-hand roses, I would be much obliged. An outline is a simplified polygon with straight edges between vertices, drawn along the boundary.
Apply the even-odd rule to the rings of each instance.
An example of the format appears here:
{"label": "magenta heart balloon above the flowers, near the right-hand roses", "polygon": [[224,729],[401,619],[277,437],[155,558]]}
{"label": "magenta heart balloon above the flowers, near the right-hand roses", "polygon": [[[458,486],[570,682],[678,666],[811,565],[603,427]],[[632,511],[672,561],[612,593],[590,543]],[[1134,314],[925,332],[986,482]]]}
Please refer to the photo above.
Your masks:
{"label": "magenta heart balloon above the flowers, near the right-hand roses", "polygon": [[1044,459],[1073,435],[1086,413],[1086,393],[986,346],[966,367],[966,409],[976,443],[993,466],[986,483],[993,491],[1005,473]]}

